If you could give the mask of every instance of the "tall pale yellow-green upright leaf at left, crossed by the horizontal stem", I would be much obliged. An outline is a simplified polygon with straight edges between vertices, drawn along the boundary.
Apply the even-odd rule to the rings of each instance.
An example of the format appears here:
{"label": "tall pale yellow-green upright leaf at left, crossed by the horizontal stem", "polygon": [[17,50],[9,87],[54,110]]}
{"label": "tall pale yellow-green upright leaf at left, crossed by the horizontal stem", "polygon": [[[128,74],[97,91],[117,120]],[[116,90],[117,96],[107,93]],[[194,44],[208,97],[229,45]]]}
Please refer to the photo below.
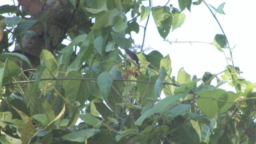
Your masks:
{"label": "tall pale yellow-green upright leaf at left, crossed by the horizontal stem", "polygon": [[[41,78],[56,78],[58,75],[58,64],[48,50],[42,50],[40,54],[40,62],[42,65],[45,65],[46,68],[42,72]],[[56,80],[42,80],[39,82],[39,89],[46,96],[51,92],[55,86]]]}

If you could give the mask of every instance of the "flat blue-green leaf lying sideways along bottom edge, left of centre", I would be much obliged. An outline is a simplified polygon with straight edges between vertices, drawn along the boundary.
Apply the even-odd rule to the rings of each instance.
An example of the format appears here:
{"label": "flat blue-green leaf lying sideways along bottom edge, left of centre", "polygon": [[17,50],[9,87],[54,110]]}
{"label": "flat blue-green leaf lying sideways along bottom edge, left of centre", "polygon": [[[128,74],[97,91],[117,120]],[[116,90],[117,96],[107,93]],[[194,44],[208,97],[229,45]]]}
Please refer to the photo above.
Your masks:
{"label": "flat blue-green leaf lying sideways along bottom edge, left of centre", "polygon": [[69,140],[73,142],[84,142],[85,139],[88,139],[95,134],[98,134],[100,132],[99,129],[86,129],[86,130],[80,130],[78,132],[72,132],[70,134],[66,134],[62,136],[64,140]]}

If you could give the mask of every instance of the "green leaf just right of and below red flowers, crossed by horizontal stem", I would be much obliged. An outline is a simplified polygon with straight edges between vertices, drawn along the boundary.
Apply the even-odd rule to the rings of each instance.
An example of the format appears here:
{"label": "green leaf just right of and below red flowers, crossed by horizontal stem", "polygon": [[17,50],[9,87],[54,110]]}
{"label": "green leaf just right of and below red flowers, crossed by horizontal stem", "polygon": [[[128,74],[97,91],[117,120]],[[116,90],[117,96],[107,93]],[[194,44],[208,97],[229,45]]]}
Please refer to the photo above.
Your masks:
{"label": "green leaf just right of and below red flowers, crossed by horizontal stem", "polygon": [[[144,74],[141,74],[137,78],[137,80],[139,81],[148,81],[148,82],[155,82],[156,79],[157,79],[157,76],[149,77]],[[142,104],[145,107],[153,106],[155,103],[155,100],[158,98],[157,94],[154,91],[154,87],[155,87],[154,84],[137,82],[137,87],[140,92]]]}

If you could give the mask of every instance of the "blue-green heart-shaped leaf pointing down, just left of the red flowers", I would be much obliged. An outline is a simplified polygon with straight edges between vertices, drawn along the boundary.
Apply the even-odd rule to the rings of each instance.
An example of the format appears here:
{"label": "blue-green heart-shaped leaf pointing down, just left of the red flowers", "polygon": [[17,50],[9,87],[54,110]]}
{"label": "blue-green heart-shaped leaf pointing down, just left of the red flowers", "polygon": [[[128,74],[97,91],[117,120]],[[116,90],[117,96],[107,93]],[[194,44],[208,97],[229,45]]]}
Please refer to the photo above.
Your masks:
{"label": "blue-green heart-shaped leaf pointing down, just left of the red flowers", "polygon": [[113,72],[102,72],[97,78],[97,84],[105,100],[108,98],[113,80]]}

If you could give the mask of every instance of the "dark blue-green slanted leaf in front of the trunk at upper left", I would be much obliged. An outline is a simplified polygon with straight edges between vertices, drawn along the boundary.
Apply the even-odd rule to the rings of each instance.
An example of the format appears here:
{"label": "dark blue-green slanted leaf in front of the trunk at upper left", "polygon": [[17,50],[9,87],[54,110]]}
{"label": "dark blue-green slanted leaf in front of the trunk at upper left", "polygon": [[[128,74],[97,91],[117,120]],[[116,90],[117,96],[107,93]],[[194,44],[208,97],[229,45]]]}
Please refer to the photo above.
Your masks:
{"label": "dark blue-green slanted leaf in front of the trunk at upper left", "polygon": [[24,22],[21,22],[18,25],[18,27],[14,30],[14,36],[18,36],[19,34],[26,32],[36,22],[37,22],[37,20],[26,20]]}

